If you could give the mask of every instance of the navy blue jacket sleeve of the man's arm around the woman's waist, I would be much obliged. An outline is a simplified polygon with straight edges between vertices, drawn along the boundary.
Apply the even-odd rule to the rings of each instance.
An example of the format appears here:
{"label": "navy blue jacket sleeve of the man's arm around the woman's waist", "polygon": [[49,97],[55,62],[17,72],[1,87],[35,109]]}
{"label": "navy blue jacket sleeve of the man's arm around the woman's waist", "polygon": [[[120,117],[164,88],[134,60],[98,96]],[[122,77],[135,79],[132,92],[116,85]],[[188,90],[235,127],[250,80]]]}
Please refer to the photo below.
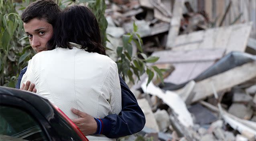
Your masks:
{"label": "navy blue jacket sleeve of the man's arm around the woman's waist", "polygon": [[122,111],[118,115],[108,115],[99,120],[102,126],[100,126],[101,131],[98,133],[109,138],[137,133],[143,129],[146,122],[145,115],[140,109],[135,96],[120,76],[119,79],[122,91]]}

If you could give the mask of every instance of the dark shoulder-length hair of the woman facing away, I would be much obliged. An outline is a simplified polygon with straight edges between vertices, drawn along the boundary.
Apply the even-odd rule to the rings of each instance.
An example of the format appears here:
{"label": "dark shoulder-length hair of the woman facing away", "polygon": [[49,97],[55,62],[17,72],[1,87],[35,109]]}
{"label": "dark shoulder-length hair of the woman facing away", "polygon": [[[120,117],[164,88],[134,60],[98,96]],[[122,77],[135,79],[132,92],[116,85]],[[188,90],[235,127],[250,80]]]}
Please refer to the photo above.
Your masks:
{"label": "dark shoulder-length hair of the woman facing away", "polygon": [[106,55],[101,44],[98,22],[89,8],[74,5],[60,12],[47,48],[52,50],[57,46],[72,49],[69,42],[81,45],[87,52]]}

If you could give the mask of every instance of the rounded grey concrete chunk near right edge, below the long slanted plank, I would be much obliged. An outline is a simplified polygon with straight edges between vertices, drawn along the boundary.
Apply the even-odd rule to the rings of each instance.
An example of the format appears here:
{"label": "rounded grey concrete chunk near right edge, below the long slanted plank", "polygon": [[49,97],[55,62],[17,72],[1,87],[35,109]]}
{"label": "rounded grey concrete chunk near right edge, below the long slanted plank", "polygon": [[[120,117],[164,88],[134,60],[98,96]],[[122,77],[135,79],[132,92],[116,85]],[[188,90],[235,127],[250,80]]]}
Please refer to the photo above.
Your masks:
{"label": "rounded grey concrete chunk near right edge, below the long slanted plank", "polygon": [[246,107],[244,104],[233,103],[228,109],[228,113],[240,118],[251,119],[253,110],[250,107]]}

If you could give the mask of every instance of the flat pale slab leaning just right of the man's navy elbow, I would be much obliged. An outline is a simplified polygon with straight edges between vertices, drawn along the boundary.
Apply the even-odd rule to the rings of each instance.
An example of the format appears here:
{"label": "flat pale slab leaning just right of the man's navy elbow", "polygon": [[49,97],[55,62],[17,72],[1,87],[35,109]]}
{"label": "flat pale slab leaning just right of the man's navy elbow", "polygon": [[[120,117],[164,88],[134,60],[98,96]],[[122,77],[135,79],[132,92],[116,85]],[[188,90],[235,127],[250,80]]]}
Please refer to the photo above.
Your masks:
{"label": "flat pale slab leaning just right of the man's navy elbow", "polygon": [[145,127],[151,128],[159,132],[159,128],[156,122],[156,119],[154,118],[154,114],[151,111],[151,107],[148,104],[148,101],[146,99],[138,99],[138,105],[142,109],[145,118],[146,118],[146,124]]}

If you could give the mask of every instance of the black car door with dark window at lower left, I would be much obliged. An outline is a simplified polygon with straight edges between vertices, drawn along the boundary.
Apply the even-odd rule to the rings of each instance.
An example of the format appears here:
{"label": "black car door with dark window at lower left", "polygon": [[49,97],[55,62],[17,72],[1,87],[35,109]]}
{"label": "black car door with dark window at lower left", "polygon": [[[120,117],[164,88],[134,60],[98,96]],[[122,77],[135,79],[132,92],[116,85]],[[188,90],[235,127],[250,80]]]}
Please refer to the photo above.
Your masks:
{"label": "black car door with dark window at lower left", "polygon": [[60,141],[60,137],[32,105],[17,97],[1,94],[0,140]]}

